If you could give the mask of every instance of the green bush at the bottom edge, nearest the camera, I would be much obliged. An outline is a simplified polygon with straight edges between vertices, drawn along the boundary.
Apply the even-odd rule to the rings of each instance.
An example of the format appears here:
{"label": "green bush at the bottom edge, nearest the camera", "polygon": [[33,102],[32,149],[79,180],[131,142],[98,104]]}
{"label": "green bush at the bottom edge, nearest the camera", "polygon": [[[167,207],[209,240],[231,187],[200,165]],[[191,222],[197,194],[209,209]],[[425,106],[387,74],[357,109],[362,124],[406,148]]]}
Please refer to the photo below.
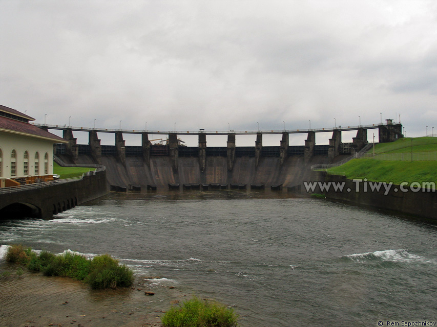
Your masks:
{"label": "green bush at the bottom edge, nearest the camera", "polygon": [[215,301],[202,301],[197,297],[185,301],[182,306],[172,307],[161,322],[164,327],[233,327],[238,315]]}

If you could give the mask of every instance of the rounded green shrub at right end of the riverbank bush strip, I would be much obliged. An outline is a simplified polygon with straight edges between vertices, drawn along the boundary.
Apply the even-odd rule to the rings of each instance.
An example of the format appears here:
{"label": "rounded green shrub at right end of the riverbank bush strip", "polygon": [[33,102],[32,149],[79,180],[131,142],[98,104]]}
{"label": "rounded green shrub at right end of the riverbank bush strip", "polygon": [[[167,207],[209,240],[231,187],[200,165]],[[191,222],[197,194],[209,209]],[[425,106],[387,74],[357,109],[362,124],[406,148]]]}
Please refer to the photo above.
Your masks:
{"label": "rounded green shrub at right end of the riverbank bush strip", "polygon": [[96,256],[91,261],[90,271],[86,283],[92,289],[129,287],[133,283],[133,272],[108,254]]}

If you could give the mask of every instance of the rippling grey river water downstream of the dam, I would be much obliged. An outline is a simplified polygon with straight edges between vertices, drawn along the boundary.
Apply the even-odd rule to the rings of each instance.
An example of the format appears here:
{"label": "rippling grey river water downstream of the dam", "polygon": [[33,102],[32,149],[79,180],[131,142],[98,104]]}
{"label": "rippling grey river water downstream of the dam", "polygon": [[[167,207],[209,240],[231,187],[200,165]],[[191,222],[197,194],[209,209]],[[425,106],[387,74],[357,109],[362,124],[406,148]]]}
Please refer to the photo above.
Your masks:
{"label": "rippling grey river water downstream of the dam", "polygon": [[433,225],[310,198],[167,198],[4,220],[0,244],[110,253],[151,287],[233,306],[242,326],[436,320]]}

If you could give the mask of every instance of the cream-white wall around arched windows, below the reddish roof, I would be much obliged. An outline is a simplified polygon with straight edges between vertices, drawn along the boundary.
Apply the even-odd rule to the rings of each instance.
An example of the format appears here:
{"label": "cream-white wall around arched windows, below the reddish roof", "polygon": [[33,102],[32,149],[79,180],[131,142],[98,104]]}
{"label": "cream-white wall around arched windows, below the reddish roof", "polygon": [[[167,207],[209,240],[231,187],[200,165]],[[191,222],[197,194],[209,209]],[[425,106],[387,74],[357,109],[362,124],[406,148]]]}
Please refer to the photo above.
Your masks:
{"label": "cream-white wall around arched windows, below the reddish roof", "polygon": [[[14,133],[0,132],[0,177],[18,178],[27,176],[53,175],[53,141]],[[16,176],[11,176],[11,153],[16,151]],[[24,153],[29,153],[28,175],[24,175]],[[35,153],[39,153],[39,174],[35,175]],[[48,154],[48,173],[44,172],[44,156]]]}

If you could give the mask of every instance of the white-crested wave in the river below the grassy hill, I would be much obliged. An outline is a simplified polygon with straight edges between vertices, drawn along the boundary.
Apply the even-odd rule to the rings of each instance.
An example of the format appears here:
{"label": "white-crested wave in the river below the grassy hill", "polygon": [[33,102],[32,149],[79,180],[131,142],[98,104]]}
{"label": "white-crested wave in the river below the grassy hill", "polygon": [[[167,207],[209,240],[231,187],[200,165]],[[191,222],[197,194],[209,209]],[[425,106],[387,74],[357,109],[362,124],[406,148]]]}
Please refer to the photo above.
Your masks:
{"label": "white-crested wave in the river below the grassy hill", "polygon": [[436,259],[427,259],[414,253],[409,253],[406,249],[383,250],[365,253],[355,253],[346,255],[346,258],[356,262],[385,261],[400,263],[433,263],[437,264]]}

